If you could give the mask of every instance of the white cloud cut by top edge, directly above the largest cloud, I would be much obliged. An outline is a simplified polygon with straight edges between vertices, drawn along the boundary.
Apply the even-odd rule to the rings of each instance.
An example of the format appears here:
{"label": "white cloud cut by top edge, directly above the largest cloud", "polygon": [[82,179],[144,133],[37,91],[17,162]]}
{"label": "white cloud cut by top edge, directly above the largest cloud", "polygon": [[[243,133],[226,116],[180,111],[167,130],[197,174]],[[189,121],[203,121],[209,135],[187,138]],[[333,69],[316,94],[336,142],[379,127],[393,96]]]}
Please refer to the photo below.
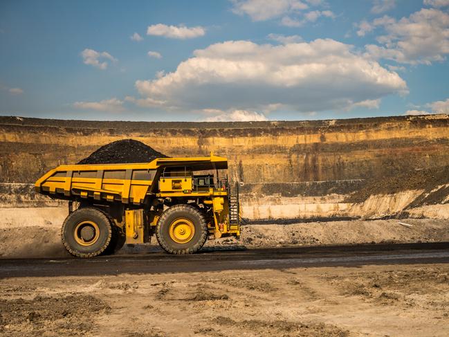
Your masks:
{"label": "white cloud cut by top edge, directly above the largest cloud", "polygon": [[232,12],[248,15],[253,21],[265,21],[305,10],[309,6],[297,0],[231,0]]}

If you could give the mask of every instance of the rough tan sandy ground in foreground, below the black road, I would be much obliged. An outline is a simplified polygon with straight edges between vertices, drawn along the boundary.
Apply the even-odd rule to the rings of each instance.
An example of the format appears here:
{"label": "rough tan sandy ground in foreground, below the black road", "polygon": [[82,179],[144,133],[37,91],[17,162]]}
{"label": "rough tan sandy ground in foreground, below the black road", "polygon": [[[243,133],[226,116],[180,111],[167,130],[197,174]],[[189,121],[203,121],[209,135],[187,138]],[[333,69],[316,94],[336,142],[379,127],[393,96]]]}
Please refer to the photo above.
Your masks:
{"label": "rough tan sandy ground in foreground, below the black road", "polygon": [[447,336],[449,266],[25,277],[6,336]]}

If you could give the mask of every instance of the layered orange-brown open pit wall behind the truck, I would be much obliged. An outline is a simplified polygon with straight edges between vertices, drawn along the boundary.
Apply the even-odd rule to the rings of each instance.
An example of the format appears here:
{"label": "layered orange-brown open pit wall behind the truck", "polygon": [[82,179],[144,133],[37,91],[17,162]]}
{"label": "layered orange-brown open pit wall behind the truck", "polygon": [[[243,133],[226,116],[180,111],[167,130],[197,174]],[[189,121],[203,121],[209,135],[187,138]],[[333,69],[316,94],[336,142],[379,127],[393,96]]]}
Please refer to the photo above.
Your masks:
{"label": "layered orange-brown open pit wall behind the truck", "polygon": [[26,194],[23,184],[124,138],[168,156],[227,157],[230,179],[244,182],[242,209],[252,220],[384,217],[422,191],[345,199],[369,179],[449,165],[448,115],[213,123],[0,117],[1,206],[37,206],[39,197],[17,197]]}

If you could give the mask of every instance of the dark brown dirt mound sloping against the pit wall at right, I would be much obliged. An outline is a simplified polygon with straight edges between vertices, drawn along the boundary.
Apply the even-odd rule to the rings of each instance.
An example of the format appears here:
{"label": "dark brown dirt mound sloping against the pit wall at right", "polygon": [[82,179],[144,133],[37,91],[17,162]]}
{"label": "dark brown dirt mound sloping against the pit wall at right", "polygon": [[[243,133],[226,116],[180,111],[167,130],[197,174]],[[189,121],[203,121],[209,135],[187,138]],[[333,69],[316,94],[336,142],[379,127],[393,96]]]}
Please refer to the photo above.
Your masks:
{"label": "dark brown dirt mound sloping against the pit wall at right", "polygon": [[[360,203],[376,194],[394,194],[406,190],[424,190],[428,203],[439,203],[447,197],[447,193],[430,196],[430,192],[438,186],[449,183],[449,166],[432,167],[428,170],[410,170],[383,179],[372,179],[364,188],[351,194],[345,202]],[[446,190],[446,192],[449,192]],[[430,198],[429,198],[430,197]],[[416,205],[417,206],[417,205]]]}

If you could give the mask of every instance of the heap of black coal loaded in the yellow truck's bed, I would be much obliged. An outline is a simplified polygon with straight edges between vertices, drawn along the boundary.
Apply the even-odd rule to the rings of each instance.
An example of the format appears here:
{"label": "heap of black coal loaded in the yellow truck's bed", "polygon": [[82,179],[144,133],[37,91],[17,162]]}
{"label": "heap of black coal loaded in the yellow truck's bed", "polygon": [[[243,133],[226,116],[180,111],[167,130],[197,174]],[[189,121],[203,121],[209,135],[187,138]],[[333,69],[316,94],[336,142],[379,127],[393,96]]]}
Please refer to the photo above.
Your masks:
{"label": "heap of black coal loaded in the yellow truck's bed", "polygon": [[78,164],[149,163],[155,158],[166,157],[138,140],[124,139],[100,147]]}

